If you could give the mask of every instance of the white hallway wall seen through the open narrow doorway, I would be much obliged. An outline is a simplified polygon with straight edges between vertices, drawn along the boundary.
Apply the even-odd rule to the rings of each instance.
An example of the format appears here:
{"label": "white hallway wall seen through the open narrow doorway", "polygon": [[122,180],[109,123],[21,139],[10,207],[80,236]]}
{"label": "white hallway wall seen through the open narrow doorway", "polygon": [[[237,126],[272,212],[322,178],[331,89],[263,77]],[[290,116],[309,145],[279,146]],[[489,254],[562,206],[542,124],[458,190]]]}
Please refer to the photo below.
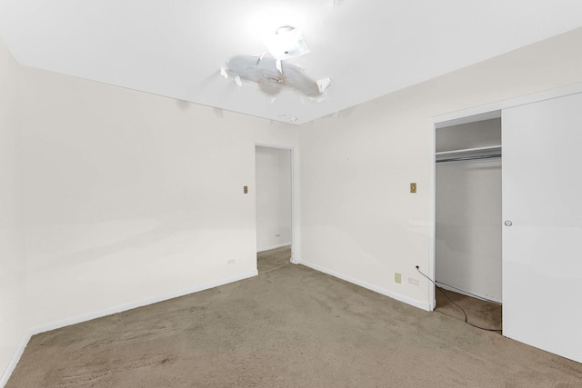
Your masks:
{"label": "white hallway wall seen through the open narrow doorway", "polygon": [[257,252],[291,244],[291,151],[256,147]]}

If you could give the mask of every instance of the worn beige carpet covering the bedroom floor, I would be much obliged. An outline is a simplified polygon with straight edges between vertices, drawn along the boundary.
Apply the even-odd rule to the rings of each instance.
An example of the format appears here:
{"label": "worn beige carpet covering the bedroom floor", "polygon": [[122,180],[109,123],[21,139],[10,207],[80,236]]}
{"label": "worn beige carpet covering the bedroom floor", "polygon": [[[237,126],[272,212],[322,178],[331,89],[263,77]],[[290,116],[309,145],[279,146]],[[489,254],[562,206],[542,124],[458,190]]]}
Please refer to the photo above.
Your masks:
{"label": "worn beige carpet covering the bedroom floor", "polygon": [[[259,275],[35,335],[7,387],[579,387],[582,364],[260,254]],[[541,306],[540,306],[541,308]]]}

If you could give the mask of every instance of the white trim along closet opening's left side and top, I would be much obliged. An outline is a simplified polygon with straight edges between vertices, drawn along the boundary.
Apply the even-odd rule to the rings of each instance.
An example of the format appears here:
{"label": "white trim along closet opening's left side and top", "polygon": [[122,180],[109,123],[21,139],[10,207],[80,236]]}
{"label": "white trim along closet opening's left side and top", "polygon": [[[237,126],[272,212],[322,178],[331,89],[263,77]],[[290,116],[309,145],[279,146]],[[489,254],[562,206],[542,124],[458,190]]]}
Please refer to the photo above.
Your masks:
{"label": "white trim along closet opening's left side and top", "polygon": [[[440,114],[428,119],[428,268],[427,276],[435,280],[436,268],[436,243],[437,243],[437,166],[435,160],[435,147],[437,144],[437,128],[468,124],[477,121],[483,121],[491,118],[501,117],[503,110],[523,105],[537,103],[538,101],[549,100],[552,98],[563,97],[566,95],[575,95],[582,93],[582,83],[567,85],[556,89],[550,89],[544,92],[538,92],[531,95],[522,95],[516,98],[500,101],[492,104],[484,104],[468,108],[462,111],[448,114]],[[501,128],[503,132],[503,128]],[[503,258],[502,258],[503,260]],[[421,268],[422,270],[422,268]],[[503,293],[503,291],[502,291]],[[435,285],[428,283],[428,310],[433,311],[437,305],[435,295]]]}

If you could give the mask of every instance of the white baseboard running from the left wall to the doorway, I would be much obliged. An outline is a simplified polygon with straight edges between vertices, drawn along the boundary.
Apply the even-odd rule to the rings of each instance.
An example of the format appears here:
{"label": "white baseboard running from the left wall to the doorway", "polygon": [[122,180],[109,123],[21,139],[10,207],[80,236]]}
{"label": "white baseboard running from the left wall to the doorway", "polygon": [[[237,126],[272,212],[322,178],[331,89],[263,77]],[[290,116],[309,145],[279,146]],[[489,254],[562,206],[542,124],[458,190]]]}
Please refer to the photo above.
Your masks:
{"label": "white baseboard running from the left wall to the doorway", "polygon": [[28,341],[30,341],[30,338],[35,334],[45,333],[45,332],[48,332],[51,330],[60,329],[61,327],[69,326],[69,325],[75,324],[75,323],[82,323],[82,322],[86,322],[86,321],[91,321],[92,319],[95,319],[95,318],[101,318],[101,317],[104,317],[107,315],[111,315],[113,313],[121,313],[121,312],[124,312],[127,310],[135,309],[137,307],[143,307],[143,306],[146,306],[148,304],[164,302],[164,301],[167,301],[169,299],[177,298],[178,296],[187,295],[189,293],[197,293],[200,291],[208,290],[210,288],[218,287],[219,285],[225,285],[225,284],[229,284],[229,283],[238,282],[239,280],[244,280],[244,279],[247,279],[249,277],[256,276],[257,274],[258,274],[258,271],[254,270],[254,271],[247,272],[245,274],[238,274],[236,276],[226,277],[224,279],[217,280],[216,282],[199,284],[199,285],[196,285],[192,288],[188,288],[186,290],[182,290],[182,291],[179,291],[176,293],[166,293],[164,295],[159,295],[159,296],[156,296],[153,298],[147,298],[147,299],[144,299],[141,301],[120,304],[118,306],[111,307],[111,308],[101,310],[98,312],[85,313],[85,314],[77,315],[75,317],[67,318],[67,319],[64,319],[61,321],[47,323],[47,324],[43,324],[42,326],[36,326],[34,328],[31,328],[28,330],[28,333],[25,335],[25,338],[23,339],[22,343],[18,347],[18,350],[16,351],[14,357],[12,358],[12,361],[8,364],[8,366],[5,369],[5,372],[0,377],[0,387],[4,387],[5,384],[8,383],[8,379],[10,378],[10,375],[14,372],[16,364],[18,363],[18,361],[20,361],[20,357],[25,352],[26,344],[28,343]]}

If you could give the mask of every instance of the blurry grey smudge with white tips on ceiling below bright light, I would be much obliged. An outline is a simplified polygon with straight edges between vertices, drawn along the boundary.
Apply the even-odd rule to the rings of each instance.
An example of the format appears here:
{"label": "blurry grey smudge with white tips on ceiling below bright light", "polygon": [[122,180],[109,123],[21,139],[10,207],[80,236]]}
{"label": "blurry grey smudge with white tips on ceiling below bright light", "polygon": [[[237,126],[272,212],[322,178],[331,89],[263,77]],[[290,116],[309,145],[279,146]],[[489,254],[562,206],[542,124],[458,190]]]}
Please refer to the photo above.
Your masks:
{"label": "blurry grey smudge with white tips on ceiling below bright light", "polygon": [[289,88],[311,100],[322,101],[331,83],[328,77],[314,81],[300,67],[266,58],[265,55],[236,55],[230,58],[227,65],[220,69],[220,74],[225,78],[232,77],[239,86],[242,85],[241,80],[256,82],[259,90],[270,96],[276,96],[284,88]]}

